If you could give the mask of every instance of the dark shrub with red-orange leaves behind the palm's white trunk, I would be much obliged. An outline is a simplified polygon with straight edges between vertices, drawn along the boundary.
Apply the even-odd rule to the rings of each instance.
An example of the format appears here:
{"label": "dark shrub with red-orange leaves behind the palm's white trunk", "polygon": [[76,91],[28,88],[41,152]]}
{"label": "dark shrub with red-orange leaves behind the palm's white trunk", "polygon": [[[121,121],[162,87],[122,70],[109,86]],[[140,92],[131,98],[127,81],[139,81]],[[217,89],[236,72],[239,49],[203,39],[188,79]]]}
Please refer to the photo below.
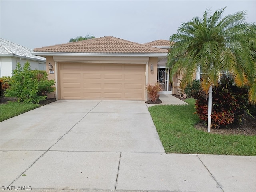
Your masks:
{"label": "dark shrub with red-orange leaves behind the palm's white trunk", "polygon": [[[202,94],[195,96],[196,114],[207,122],[208,100]],[[212,92],[212,128],[242,122],[248,108],[248,88],[222,83]]]}

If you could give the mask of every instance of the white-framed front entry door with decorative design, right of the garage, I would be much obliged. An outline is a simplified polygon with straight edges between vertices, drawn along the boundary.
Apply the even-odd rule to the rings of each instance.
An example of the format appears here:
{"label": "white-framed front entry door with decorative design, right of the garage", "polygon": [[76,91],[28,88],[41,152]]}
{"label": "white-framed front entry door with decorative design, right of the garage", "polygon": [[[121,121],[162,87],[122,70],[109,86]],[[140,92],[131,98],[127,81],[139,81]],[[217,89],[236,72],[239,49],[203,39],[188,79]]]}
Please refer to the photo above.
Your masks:
{"label": "white-framed front entry door with decorative design, right of the garage", "polygon": [[169,69],[165,67],[158,67],[157,80],[162,85],[162,94],[172,94],[172,83],[169,82]]}

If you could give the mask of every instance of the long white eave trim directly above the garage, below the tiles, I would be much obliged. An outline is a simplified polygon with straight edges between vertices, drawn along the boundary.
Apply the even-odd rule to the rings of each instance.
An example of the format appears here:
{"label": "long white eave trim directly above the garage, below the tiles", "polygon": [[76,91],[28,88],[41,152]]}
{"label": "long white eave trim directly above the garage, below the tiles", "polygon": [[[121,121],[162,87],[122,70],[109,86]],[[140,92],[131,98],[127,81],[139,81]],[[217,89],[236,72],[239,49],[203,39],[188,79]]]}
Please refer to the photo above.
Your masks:
{"label": "long white eave trim directly above the garage, below the tiles", "polygon": [[167,53],[59,53],[59,52],[32,52],[37,56],[104,56],[104,57],[162,57]]}

